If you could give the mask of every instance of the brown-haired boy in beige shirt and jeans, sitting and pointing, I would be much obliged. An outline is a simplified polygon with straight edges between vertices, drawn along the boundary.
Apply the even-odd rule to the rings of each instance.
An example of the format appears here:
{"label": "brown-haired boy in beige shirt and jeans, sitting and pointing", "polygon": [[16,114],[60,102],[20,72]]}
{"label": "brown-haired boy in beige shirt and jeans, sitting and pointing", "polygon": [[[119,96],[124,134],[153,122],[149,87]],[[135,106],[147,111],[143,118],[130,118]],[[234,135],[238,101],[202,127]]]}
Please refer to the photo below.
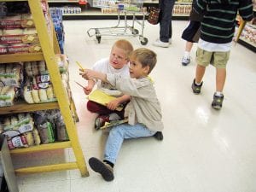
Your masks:
{"label": "brown-haired boy in beige shirt and jeans, sitting and pointing", "polygon": [[113,166],[125,139],[161,135],[164,128],[160,102],[154,85],[148,78],[156,64],[156,54],[150,49],[140,48],[132,51],[129,58],[131,78],[90,69],[80,73],[84,79],[101,79],[102,82],[108,82],[131,98],[131,102],[125,108],[128,123],[116,125],[110,130],[104,160],[95,157],[89,160],[91,169],[99,172],[106,181],[113,180]]}

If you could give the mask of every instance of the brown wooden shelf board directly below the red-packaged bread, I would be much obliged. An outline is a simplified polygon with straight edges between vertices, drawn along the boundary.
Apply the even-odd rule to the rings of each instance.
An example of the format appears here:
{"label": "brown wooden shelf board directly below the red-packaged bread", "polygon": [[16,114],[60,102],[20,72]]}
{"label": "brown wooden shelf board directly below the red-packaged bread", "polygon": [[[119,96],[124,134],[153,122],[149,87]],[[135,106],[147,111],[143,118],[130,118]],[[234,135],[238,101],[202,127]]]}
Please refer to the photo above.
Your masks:
{"label": "brown wooden shelf board directly below the red-packaged bread", "polygon": [[19,61],[43,61],[43,53],[17,53],[0,55],[0,63],[19,62]]}

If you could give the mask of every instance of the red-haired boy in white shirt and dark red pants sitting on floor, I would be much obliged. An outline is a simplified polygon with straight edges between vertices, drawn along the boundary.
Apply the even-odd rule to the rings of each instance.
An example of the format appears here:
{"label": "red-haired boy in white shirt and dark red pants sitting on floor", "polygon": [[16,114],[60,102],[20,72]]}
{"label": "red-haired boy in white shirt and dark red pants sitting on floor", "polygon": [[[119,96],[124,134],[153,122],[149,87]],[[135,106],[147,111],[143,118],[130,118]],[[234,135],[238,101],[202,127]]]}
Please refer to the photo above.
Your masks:
{"label": "red-haired boy in white shirt and dark red pants sitting on floor", "polygon": [[[97,61],[92,69],[96,72],[101,73],[112,73],[123,77],[129,77],[129,59],[128,55],[133,50],[131,43],[125,39],[119,39],[113,44],[109,58],[104,58]],[[122,92],[116,90],[108,82],[103,82],[98,79],[88,80],[88,85],[84,89],[84,93],[89,95],[93,90],[95,84],[97,89],[102,90],[109,96],[115,96],[116,99],[112,102],[108,102],[107,106],[103,106],[99,103],[88,101],[87,108],[92,113],[98,113],[99,116],[95,121],[95,129],[98,130],[105,122],[110,120],[118,120],[124,118],[124,109],[119,111],[116,110],[120,105],[125,105],[126,102],[130,101],[130,96],[123,95]]]}

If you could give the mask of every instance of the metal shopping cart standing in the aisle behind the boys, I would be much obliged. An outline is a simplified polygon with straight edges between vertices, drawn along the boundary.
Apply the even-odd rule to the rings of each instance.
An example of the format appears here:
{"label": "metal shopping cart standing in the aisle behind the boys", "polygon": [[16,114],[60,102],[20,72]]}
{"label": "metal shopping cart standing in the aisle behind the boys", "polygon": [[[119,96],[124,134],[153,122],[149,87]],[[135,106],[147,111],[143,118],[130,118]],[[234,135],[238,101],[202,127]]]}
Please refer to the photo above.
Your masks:
{"label": "metal shopping cart standing in the aisle behind the boys", "polygon": [[[143,8],[143,0],[124,0],[124,1],[108,1],[108,0],[93,0],[92,7],[101,8],[102,13],[117,13],[118,23],[116,26],[90,28],[87,33],[89,37],[95,36],[98,44],[101,43],[102,36],[131,36],[138,37],[141,44],[148,44],[148,38],[143,35],[145,27],[145,17],[147,9]],[[128,25],[127,16],[131,15],[131,26]],[[143,20],[137,20],[137,16],[143,17]],[[124,25],[121,26],[121,16],[124,17]],[[135,28],[135,24],[141,26],[141,33]]]}

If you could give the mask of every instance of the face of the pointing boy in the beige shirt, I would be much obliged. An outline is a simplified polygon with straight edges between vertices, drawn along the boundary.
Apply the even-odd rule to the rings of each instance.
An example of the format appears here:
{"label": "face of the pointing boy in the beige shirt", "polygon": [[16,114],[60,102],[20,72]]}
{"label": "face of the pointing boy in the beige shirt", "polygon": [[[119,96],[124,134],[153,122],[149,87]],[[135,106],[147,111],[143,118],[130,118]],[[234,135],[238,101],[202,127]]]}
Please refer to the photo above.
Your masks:
{"label": "face of the pointing boy in the beige shirt", "polygon": [[140,61],[135,57],[131,57],[129,71],[131,78],[141,79],[148,76],[149,67],[143,67]]}

